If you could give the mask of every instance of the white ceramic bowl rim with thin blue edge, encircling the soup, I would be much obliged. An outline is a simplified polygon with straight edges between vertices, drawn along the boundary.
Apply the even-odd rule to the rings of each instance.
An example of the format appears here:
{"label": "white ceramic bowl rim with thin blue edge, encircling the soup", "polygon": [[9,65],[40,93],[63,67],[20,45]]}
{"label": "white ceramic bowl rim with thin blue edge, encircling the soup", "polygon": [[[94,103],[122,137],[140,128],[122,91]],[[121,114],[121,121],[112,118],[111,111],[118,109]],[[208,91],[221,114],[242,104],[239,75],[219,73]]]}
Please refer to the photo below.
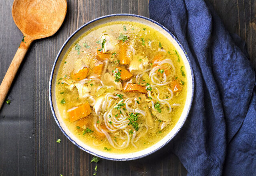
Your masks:
{"label": "white ceramic bowl rim with thin blue edge, encircling the soup", "polygon": [[[155,30],[161,32],[166,38],[168,38],[171,43],[176,47],[177,51],[180,54],[181,59],[184,62],[184,66],[187,72],[187,99],[185,102],[185,107],[183,109],[183,112],[181,114],[181,117],[179,118],[179,121],[175,125],[175,127],[159,142],[156,144],[150,146],[149,148],[146,148],[144,150],[133,152],[133,153],[127,153],[127,154],[115,154],[111,152],[103,152],[100,150],[97,150],[95,148],[92,148],[88,146],[87,144],[81,142],[74,134],[69,131],[65,123],[63,122],[62,118],[60,117],[60,113],[58,111],[58,107],[56,104],[55,99],[55,85],[56,85],[56,76],[58,73],[58,69],[60,67],[60,63],[69,49],[69,47],[85,32],[88,30],[94,28],[95,26],[98,26],[100,24],[104,24],[107,22],[113,22],[113,21],[132,21],[132,22],[139,22],[141,24],[145,24],[147,26],[150,26],[151,28],[154,28]],[[163,147],[165,144],[167,144],[176,134],[179,132],[183,124],[185,123],[185,120],[187,118],[187,115],[189,113],[189,109],[191,107],[192,99],[193,99],[193,93],[194,93],[194,77],[193,72],[191,69],[191,64],[189,62],[189,59],[187,55],[185,54],[185,51],[181,44],[178,42],[178,40],[171,34],[165,27],[163,27],[161,24],[149,19],[145,18],[143,16],[133,15],[133,14],[113,14],[108,16],[103,16],[100,18],[97,18],[95,20],[92,20],[91,22],[88,22],[87,24],[83,25],[81,28],[79,28],[76,32],[74,32],[68,40],[62,45],[60,51],[58,52],[58,55],[56,57],[56,60],[54,62],[54,65],[52,67],[52,73],[50,75],[50,83],[49,83],[49,99],[50,99],[50,107],[52,109],[53,117],[58,125],[60,127],[60,130],[69,138],[71,142],[73,142],[76,146],[81,148],[82,150],[93,154],[95,156],[99,156],[101,158],[105,158],[108,160],[135,160],[138,158],[142,158],[144,156],[147,156],[149,154],[152,154],[153,152],[159,150],[161,147]]]}

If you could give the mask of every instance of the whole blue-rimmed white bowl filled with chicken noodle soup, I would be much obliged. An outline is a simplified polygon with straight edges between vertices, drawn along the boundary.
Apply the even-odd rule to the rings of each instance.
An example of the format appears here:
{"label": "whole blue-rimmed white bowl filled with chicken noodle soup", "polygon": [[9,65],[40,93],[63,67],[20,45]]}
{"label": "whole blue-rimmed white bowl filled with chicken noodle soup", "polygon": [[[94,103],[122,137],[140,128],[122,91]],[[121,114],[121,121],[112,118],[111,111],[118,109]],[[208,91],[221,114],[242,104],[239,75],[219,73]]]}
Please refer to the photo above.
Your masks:
{"label": "whole blue-rimmed white bowl filled with chicken noodle soup", "polygon": [[109,160],[159,150],[184,124],[194,92],[178,40],[142,16],[113,14],[61,47],[49,83],[53,117],[76,146]]}

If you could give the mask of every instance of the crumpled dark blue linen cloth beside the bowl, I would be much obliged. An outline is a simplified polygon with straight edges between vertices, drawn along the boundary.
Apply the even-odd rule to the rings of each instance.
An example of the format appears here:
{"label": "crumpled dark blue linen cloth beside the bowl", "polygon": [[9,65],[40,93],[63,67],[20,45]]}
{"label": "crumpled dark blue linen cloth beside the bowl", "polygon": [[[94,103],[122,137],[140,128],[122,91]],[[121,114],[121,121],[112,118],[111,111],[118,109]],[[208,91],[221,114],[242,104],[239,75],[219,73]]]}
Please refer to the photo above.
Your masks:
{"label": "crumpled dark blue linen cloth beside the bowl", "polygon": [[195,91],[172,140],[188,176],[256,176],[256,85],[245,43],[203,0],[150,0],[150,18],[179,40]]}

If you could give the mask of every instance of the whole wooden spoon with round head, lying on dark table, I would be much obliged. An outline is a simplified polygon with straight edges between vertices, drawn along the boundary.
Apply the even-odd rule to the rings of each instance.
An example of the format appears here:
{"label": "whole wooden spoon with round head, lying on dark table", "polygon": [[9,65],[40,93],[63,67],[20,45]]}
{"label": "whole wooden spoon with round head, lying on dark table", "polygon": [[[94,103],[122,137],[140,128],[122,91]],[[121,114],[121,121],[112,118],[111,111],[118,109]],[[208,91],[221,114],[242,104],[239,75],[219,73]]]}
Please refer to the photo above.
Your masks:
{"label": "whole wooden spoon with round head, lying on dark table", "polygon": [[55,34],[66,13],[67,0],[14,0],[12,18],[24,37],[0,85],[0,109],[30,44]]}

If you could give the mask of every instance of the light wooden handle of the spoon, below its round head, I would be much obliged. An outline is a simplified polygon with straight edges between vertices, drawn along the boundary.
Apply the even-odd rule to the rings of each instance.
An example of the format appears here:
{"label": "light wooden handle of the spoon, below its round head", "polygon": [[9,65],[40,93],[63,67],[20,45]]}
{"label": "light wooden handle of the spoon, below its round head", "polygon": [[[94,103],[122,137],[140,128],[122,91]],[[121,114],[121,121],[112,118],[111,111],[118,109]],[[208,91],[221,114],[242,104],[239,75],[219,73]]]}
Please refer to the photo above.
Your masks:
{"label": "light wooden handle of the spoon, below its round head", "polygon": [[12,85],[12,81],[20,67],[20,64],[24,58],[24,56],[26,55],[26,52],[28,51],[28,48],[30,46],[30,44],[32,43],[32,40],[22,40],[22,42],[20,43],[20,46],[16,52],[16,54],[14,55],[13,59],[12,59],[12,63],[10,64],[4,79],[0,85],[0,109],[2,107],[2,104],[4,103],[5,97]]}

